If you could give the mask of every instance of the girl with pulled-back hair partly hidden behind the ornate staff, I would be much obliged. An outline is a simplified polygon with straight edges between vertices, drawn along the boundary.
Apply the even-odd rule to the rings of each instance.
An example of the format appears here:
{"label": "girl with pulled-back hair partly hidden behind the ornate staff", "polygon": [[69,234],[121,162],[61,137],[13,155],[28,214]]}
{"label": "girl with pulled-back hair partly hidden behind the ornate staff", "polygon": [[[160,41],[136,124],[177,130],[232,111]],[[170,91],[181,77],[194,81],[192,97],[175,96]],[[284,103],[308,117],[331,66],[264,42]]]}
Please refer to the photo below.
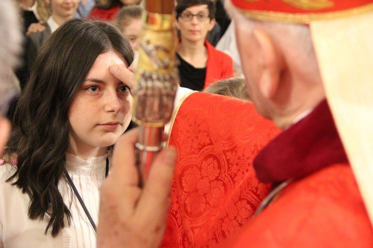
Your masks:
{"label": "girl with pulled-back hair partly hidden behind the ornate staff", "polygon": [[141,15],[143,8],[139,5],[123,6],[117,13],[114,22],[120,31],[127,37],[133,51],[139,48],[139,36],[142,27]]}

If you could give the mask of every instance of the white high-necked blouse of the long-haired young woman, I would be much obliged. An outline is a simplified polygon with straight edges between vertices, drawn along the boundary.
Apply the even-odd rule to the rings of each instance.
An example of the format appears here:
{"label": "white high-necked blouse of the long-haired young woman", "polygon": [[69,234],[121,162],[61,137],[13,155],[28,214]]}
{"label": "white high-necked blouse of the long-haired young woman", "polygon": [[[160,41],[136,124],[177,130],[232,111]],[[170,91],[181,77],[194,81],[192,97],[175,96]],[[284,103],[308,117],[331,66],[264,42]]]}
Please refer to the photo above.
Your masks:
{"label": "white high-necked blouse of the long-haired young woman", "polygon": [[[106,154],[97,158],[82,160],[68,154],[66,168],[81,195],[94,223],[97,225],[99,186],[105,178]],[[19,188],[5,180],[14,173],[11,165],[0,166],[0,248],[94,248],[96,235],[81,204],[68,182],[61,180],[59,189],[65,204],[72,214],[71,225],[53,238],[50,232],[44,235],[49,216],[44,220],[30,220],[27,216],[29,197]]]}

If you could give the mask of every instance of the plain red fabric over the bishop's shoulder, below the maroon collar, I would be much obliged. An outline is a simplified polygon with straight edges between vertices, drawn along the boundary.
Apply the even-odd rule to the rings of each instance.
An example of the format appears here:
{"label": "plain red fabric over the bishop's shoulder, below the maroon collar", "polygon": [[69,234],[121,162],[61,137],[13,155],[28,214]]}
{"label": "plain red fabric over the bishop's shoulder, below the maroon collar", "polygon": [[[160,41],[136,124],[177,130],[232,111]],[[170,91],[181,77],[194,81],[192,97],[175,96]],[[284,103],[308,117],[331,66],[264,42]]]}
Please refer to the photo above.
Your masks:
{"label": "plain red fabric over the bishop's shoulder, below the maroon collar", "polygon": [[290,183],[237,234],[220,247],[363,248],[373,244],[372,225],[348,165],[332,165]]}

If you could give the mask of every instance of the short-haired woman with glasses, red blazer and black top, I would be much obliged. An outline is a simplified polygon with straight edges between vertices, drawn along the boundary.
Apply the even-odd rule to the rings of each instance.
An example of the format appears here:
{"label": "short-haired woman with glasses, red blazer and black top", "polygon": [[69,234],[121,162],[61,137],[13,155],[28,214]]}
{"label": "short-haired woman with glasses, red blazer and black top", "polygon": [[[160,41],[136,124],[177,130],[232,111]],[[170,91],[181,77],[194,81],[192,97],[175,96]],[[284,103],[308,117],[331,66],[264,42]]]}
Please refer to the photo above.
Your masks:
{"label": "short-haired woman with glasses, red blazer and black top", "polygon": [[216,81],[233,77],[233,61],[216,50],[207,33],[215,24],[215,6],[211,0],[178,0],[176,26],[180,31],[177,47],[182,87],[202,90]]}

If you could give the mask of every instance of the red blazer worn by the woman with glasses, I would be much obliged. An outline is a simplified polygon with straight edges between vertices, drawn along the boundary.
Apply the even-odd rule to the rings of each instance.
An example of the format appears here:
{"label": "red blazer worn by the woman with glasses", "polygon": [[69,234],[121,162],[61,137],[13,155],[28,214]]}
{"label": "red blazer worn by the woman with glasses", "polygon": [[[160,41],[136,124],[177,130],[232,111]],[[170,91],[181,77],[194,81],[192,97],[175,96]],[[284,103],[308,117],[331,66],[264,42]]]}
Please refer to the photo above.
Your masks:
{"label": "red blazer worn by the woman with glasses", "polygon": [[205,41],[204,45],[208,53],[204,87],[222,79],[232,78],[234,76],[232,58],[216,50],[208,41]]}

